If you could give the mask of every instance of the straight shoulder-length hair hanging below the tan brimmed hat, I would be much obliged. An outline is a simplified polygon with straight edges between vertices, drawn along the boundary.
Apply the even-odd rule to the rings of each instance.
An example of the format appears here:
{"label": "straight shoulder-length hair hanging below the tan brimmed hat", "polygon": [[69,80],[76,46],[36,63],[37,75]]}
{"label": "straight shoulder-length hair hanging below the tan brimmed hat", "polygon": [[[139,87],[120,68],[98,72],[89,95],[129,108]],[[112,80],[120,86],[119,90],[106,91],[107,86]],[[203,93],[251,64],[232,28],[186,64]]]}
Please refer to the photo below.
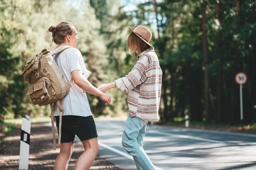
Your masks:
{"label": "straight shoulder-length hair hanging below the tan brimmed hat", "polygon": [[132,32],[127,39],[127,51],[133,57],[135,57],[134,44],[137,45],[140,53],[151,47],[145,41],[140,39],[140,37],[138,37],[136,34]]}

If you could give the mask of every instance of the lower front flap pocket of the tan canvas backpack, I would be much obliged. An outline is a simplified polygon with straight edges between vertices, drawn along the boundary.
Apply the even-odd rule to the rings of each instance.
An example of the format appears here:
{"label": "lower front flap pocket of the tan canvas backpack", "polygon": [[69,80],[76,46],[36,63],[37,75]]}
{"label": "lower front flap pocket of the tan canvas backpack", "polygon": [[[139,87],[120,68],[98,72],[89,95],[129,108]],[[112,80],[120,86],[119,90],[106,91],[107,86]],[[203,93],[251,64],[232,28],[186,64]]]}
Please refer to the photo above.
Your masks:
{"label": "lower front flap pocket of the tan canvas backpack", "polygon": [[30,96],[34,105],[47,105],[55,98],[55,91],[47,77],[42,77],[37,82],[31,84],[27,95]]}

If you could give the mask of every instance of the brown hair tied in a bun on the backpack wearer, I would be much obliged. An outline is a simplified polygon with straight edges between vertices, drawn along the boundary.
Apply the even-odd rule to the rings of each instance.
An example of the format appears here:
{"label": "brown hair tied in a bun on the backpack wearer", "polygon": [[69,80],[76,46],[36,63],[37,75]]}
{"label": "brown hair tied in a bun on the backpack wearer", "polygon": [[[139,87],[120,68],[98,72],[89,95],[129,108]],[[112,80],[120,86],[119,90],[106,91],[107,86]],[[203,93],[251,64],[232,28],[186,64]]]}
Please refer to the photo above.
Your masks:
{"label": "brown hair tied in a bun on the backpack wearer", "polygon": [[61,22],[57,26],[50,26],[48,31],[52,32],[52,41],[55,44],[61,44],[67,35],[72,35],[73,24],[68,21]]}

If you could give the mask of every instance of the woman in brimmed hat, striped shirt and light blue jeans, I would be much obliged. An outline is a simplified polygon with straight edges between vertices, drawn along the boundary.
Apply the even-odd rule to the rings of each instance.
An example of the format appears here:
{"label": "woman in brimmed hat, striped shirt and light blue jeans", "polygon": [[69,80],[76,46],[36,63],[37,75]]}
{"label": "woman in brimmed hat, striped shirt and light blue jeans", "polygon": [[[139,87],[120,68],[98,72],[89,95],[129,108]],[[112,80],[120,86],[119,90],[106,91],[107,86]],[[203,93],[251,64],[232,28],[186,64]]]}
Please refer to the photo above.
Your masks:
{"label": "woman in brimmed hat, striped shirt and light blue jeans", "polygon": [[127,40],[128,52],[140,54],[131,72],[114,82],[100,85],[102,92],[118,88],[128,93],[129,114],[122,137],[122,145],[134,158],[138,170],[154,170],[154,166],[143,149],[143,138],[148,121],[158,121],[158,108],[161,95],[162,70],[157,54],[149,43],[152,34],[143,26],[134,30]]}

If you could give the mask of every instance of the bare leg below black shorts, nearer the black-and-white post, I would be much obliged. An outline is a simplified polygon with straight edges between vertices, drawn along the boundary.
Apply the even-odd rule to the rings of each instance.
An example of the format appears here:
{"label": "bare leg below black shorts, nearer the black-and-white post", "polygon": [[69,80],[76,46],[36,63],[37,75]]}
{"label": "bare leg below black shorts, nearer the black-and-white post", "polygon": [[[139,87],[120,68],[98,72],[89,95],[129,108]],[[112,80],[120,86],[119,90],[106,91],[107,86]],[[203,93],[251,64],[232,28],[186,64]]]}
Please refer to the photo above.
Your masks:
{"label": "bare leg below black shorts, nearer the black-and-white post", "polygon": [[55,161],[54,170],[67,170],[74,143],[61,143],[61,151]]}

